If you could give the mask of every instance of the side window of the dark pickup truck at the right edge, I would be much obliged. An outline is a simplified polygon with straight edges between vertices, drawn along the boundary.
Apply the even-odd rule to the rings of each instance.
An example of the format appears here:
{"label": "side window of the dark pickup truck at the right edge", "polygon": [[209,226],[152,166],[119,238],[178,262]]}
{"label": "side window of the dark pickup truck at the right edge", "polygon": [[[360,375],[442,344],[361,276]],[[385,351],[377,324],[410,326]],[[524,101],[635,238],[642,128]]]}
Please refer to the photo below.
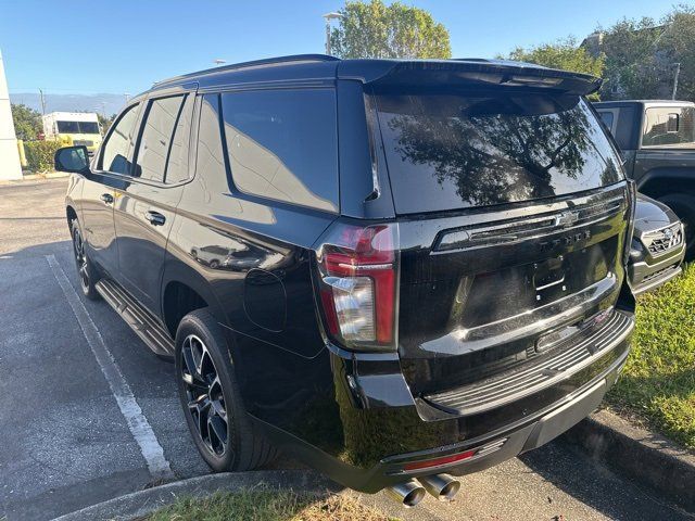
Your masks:
{"label": "side window of the dark pickup truck at the right edge", "polygon": [[692,106],[647,109],[642,147],[695,148],[694,116]]}

